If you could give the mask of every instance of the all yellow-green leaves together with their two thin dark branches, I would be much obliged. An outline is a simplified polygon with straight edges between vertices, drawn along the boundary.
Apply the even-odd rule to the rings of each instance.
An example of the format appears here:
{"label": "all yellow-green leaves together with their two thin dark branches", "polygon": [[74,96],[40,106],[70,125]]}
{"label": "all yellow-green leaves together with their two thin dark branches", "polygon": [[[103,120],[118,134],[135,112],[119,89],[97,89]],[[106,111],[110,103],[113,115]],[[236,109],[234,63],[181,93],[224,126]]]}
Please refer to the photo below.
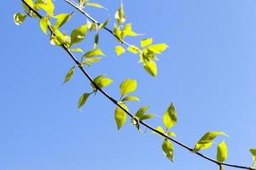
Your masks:
{"label": "all yellow-green leaves together with their two thin dark branches", "polygon": [[[166,51],[168,46],[166,43],[153,43],[153,38],[143,38],[140,41],[140,47],[136,45],[131,45],[128,42],[125,42],[125,37],[137,37],[142,36],[141,34],[133,31],[131,23],[125,24],[126,15],[124,12],[124,5],[123,3],[120,4],[120,7],[116,11],[114,18],[116,23],[113,26],[113,29],[109,29],[109,17],[104,23],[98,23],[89,14],[84,12],[85,7],[95,7],[95,8],[104,8],[99,3],[91,3],[89,0],[79,0],[78,3],[73,3],[71,1],[65,0],[67,3],[72,5],[74,8],[82,12],[89,19],[89,21],[82,26],[78,26],[67,34],[64,31],[61,31],[63,26],[66,26],[68,20],[71,20],[73,17],[72,13],[62,13],[62,14],[55,14],[55,4],[52,0],[36,0],[35,2],[32,0],[21,0],[22,7],[25,10],[25,14],[17,13],[14,15],[14,20],[16,25],[21,25],[27,18],[30,16],[32,18],[39,18],[39,26],[41,27],[44,34],[49,36],[49,42],[52,45],[60,46],[64,48],[67,54],[72,57],[75,65],[67,71],[67,76],[64,79],[63,83],[69,82],[73,77],[73,73],[76,67],[79,67],[81,71],[83,71],[84,75],[90,80],[90,93],[83,93],[79,98],[78,109],[81,110],[81,107],[86,103],[87,99],[90,98],[90,94],[96,94],[100,91],[105,97],[110,99],[115,105],[114,111],[114,119],[118,129],[125,125],[127,115],[131,116],[131,124],[137,127],[139,132],[142,132],[140,129],[140,125],[148,127],[153,131],[153,133],[157,133],[163,139],[163,143],[161,145],[161,149],[166,156],[167,159],[173,161],[174,157],[174,147],[173,143],[182,146],[183,148],[193,151],[195,154],[204,157],[208,161],[212,161],[217,163],[220,169],[224,169],[224,166],[229,167],[240,167],[245,169],[252,169],[256,168],[256,149],[250,149],[251,154],[253,155],[253,166],[252,167],[241,167],[241,166],[234,166],[232,164],[224,164],[228,156],[228,148],[227,144],[222,140],[217,146],[217,154],[216,160],[211,158],[206,158],[201,153],[200,150],[206,150],[210,146],[212,146],[213,140],[216,139],[218,136],[227,137],[228,135],[223,132],[212,131],[205,133],[201,139],[195,144],[194,149],[189,148],[185,144],[178,142],[176,139],[176,133],[171,131],[172,127],[177,123],[177,111],[171,103],[171,105],[167,108],[166,112],[162,116],[162,122],[164,124],[162,126],[158,126],[153,128],[149,126],[144,121],[148,121],[149,119],[153,119],[156,115],[147,113],[149,106],[142,106],[140,107],[135,115],[132,115],[129,111],[128,102],[131,101],[140,101],[140,99],[136,95],[131,95],[137,89],[137,81],[133,79],[126,79],[125,81],[119,84],[119,93],[120,98],[119,100],[113,99],[109,96],[102,88],[107,88],[109,85],[112,84],[113,80],[106,75],[100,75],[95,78],[91,78],[90,75],[84,71],[84,66],[91,66],[92,64],[96,64],[96,62],[101,61],[102,57],[105,57],[106,54],[102,52],[101,48],[98,48],[99,42],[99,31],[102,29],[107,30],[110,32],[114,37],[116,37],[118,45],[114,47],[115,53],[120,56],[121,54],[125,54],[125,52],[131,52],[131,54],[137,54],[139,57],[139,62],[143,64],[144,69],[148,72],[149,75],[156,77],[157,76],[157,65],[156,60],[158,60],[158,54],[163,53]],[[104,8],[106,9],[106,8]],[[41,15],[40,13],[44,13]],[[54,20],[54,24],[51,22]],[[75,44],[80,44],[79,42],[84,41],[86,34],[89,31],[94,33],[94,43],[93,48],[89,51],[84,53],[82,48],[76,47],[73,48]],[[127,46],[125,48],[124,46]],[[80,58],[80,62],[74,57],[73,52],[79,52],[83,55]]]}

